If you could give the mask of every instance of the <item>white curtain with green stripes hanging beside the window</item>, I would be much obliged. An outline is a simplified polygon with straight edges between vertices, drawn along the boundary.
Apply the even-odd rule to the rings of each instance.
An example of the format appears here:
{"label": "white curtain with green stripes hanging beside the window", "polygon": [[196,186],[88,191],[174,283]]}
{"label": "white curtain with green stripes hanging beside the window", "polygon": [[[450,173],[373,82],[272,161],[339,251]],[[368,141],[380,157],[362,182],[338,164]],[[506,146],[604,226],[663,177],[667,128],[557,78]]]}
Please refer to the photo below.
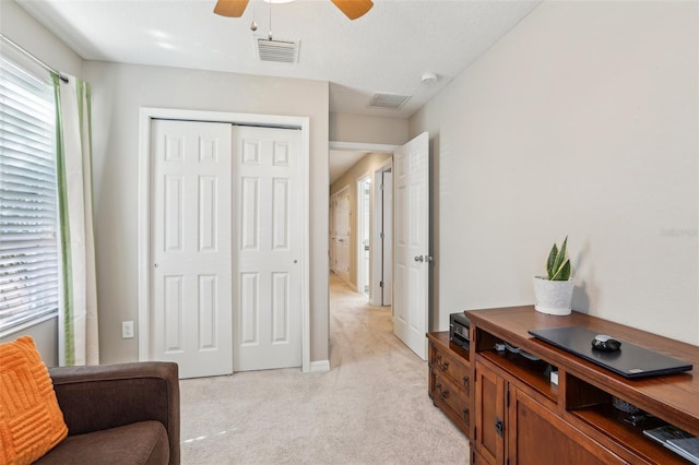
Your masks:
{"label": "white curtain with green stripes hanging beside the window", "polygon": [[98,365],[90,84],[55,75],[62,295],[59,363]]}

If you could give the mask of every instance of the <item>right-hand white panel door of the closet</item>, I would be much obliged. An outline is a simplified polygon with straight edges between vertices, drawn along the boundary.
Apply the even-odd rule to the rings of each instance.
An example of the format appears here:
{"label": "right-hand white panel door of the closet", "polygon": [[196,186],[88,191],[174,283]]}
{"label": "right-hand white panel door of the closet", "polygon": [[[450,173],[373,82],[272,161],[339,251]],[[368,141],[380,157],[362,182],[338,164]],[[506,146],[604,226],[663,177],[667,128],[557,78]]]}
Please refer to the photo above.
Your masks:
{"label": "right-hand white panel door of the closet", "polygon": [[300,131],[234,128],[234,369],[301,366]]}

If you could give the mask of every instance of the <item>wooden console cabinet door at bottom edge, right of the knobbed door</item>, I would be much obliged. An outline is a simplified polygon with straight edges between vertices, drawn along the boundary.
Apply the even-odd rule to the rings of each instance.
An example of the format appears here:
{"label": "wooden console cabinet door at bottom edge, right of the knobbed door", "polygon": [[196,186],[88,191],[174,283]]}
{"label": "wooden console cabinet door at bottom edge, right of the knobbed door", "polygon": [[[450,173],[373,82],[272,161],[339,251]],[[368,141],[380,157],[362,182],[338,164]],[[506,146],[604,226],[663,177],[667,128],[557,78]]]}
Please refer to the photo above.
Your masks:
{"label": "wooden console cabinet door at bottom edge, right of the knobbed door", "polygon": [[508,458],[510,464],[602,465],[626,463],[560,419],[534,398],[510,390]]}

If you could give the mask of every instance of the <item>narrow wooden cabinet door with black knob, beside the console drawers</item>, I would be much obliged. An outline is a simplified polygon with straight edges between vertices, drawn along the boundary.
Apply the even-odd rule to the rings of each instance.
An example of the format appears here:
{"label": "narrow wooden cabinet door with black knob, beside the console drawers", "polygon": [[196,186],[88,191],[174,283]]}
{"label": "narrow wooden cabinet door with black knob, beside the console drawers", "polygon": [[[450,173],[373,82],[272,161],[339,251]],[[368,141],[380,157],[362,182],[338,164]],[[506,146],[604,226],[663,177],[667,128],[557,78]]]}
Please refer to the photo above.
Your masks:
{"label": "narrow wooden cabinet door with black knob, beside the console drawers", "polygon": [[505,381],[476,360],[475,448],[491,465],[505,463]]}

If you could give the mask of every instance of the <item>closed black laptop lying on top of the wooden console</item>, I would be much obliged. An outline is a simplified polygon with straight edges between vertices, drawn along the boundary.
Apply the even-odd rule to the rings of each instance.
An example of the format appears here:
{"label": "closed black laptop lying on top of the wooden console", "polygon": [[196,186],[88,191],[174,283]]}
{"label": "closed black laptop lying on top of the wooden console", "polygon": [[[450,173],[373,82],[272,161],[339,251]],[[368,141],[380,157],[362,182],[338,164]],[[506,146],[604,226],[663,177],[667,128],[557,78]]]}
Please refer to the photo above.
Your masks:
{"label": "closed black laptop lying on top of the wooden console", "polygon": [[[692,369],[691,363],[649,350],[618,339],[621,347],[616,351],[592,348],[592,339],[600,334],[583,326],[564,326],[546,330],[530,330],[534,337],[582,357],[593,363],[614,371],[625,378],[656,377],[680,373]],[[614,337],[614,334],[608,334]]]}

